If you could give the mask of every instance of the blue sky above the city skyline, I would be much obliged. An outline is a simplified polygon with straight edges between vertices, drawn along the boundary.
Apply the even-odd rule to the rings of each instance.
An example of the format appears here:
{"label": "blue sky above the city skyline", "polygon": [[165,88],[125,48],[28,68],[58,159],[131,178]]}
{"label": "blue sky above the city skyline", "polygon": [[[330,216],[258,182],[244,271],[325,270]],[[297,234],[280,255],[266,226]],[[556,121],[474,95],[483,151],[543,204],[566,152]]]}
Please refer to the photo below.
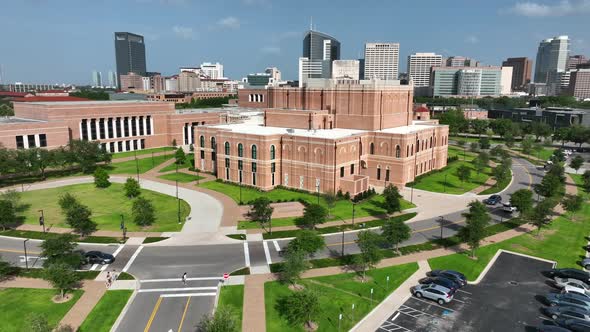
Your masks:
{"label": "blue sky above the city skyline", "polygon": [[146,39],[149,71],[219,61],[239,79],[277,66],[296,79],[301,40],[317,30],[358,58],[365,42],[399,42],[407,55],[464,55],[497,65],[534,59],[538,42],[569,35],[590,56],[590,0],[1,0],[3,82],[86,84],[115,69],[113,32]]}

